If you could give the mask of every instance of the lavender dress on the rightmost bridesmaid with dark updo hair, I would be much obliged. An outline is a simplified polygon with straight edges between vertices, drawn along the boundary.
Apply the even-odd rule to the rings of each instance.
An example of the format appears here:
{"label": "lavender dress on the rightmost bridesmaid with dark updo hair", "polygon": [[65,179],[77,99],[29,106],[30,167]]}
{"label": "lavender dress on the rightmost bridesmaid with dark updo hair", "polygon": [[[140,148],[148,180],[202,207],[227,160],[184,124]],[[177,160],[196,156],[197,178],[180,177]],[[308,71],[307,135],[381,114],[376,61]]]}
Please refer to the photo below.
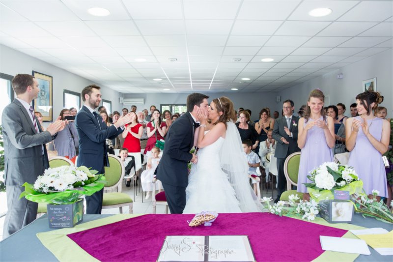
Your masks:
{"label": "lavender dress on the rightmost bridesmaid with dark updo hair", "polygon": [[[355,119],[363,119],[356,116]],[[382,138],[383,119],[374,117],[367,120],[370,134],[378,141]],[[386,171],[381,153],[368,141],[362,127],[359,128],[355,147],[349,154],[348,166],[352,166],[359,178],[363,180],[363,188],[366,194],[372,194],[372,190],[378,190],[378,196],[387,197],[388,187]]]}

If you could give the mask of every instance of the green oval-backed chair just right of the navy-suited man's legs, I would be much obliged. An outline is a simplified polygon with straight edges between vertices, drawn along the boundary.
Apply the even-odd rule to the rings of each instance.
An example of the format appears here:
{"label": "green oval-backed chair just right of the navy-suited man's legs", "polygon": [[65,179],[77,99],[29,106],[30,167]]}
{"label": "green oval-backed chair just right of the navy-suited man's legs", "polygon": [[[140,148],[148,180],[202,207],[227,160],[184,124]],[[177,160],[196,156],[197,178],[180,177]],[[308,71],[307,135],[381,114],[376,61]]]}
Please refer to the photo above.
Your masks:
{"label": "green oval-backed chair just right of the navy-suited man's legs", "polygon": [[110,167],[105,167],[105,178],[108,183],[104,187],[102,208],[118,207],[120,214],[122,214],[123,206],[128,206],[129,213],[132,214],[133,199],[129,195],[121,193],[125,172],[124,165],[115,155],[108,154],[108,159]]}

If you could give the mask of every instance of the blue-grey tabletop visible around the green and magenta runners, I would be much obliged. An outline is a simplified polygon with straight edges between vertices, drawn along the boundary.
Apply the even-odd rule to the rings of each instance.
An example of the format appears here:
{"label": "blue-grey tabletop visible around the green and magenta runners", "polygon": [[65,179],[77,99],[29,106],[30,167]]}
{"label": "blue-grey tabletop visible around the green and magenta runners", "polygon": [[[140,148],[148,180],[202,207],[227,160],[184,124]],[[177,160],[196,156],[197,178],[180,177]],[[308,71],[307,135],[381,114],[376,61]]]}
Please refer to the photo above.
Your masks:
{"label": "blue-grey tabletop visible around the green and magenta runners", "polygon": [[[111,215],[84,215],[84,221],[89,222]],[[57,261],[56,257],[46,249],[36,237],[36,233],[53,231],[49,229],[48,217],[44,215],[22,230],[0,242],[0,261]],[[388,231],[393,230],[392,224],[383,223],[373,218],[363,218],[355,214],[354,225],[366,228],[380,227]],[[392,256],[381,256],[372,248],[371,255],[360,255],[356,261],[392,261]]]}

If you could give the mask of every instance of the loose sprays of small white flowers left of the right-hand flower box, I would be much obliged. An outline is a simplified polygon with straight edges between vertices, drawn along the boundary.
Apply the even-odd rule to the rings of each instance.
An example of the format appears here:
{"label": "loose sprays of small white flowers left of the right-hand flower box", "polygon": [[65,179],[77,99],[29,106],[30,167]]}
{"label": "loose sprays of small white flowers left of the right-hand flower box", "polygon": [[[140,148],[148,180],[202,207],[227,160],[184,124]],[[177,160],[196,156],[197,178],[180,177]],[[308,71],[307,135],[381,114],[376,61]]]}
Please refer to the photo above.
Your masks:
{"label": "loose sprays of small white flowers left of the right-hand flower box", "polygon": [[302,219],[307,219],[308,221],[312,221],[315,219],[315,215],[319,213],[318,211],[318,203],[315,200],[303,201],[300,200],[299,203],[296,203],[300,198],[298,195],[290,195],[289,203],[285,201],[279,201],[278,203],[271,205],[270,202],[272,198],[263,197],[261,202],[265,209],[269,210],[270,213],[275,215],[300,215]]}

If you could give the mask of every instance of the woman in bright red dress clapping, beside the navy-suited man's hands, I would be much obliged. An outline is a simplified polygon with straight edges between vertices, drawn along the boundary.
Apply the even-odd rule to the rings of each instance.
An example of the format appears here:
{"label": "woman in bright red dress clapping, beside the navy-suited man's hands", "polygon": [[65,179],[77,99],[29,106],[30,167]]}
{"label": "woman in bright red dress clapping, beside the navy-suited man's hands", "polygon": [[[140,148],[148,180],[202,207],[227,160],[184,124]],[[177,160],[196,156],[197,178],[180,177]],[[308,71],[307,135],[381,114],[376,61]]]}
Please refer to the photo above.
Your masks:
{"label": "woman in bright red dress clapping, beside the navy-suited man's hands", "polygon": [[128,149],[130,153],[140,153],[140,138],[143,134],[143,127],[138,123],[138,116],[135,112],[131,112],[131,122],[124,125],[123,147]]}

